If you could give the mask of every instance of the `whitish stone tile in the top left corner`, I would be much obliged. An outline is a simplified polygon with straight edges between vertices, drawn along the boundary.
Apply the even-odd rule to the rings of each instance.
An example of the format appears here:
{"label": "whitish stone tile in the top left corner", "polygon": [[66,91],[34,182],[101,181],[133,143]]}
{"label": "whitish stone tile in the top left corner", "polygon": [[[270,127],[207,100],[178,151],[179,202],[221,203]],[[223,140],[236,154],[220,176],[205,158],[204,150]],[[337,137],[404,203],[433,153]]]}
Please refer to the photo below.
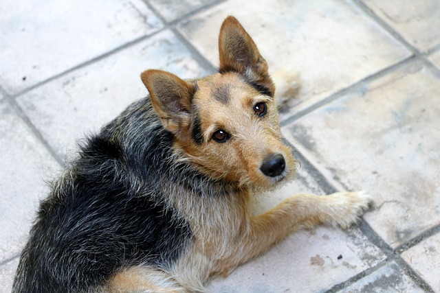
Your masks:
{"label": "whitish stone tile in the top left corner", "polygon": [[22,2],[0,11],[0,84],[17,93],[125,43],[162,23],[142,0]]}

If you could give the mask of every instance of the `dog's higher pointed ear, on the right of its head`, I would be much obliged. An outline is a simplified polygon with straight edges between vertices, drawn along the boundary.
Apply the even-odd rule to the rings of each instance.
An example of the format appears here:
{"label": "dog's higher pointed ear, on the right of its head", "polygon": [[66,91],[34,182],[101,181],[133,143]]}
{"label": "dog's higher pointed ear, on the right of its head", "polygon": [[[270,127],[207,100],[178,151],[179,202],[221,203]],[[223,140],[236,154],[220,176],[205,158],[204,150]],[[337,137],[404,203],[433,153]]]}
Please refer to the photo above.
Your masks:
{"label": "dog's higher pointed ear, on the right of its head", "polygon": [[267,72],[267,62],[234,16],[228,16],[221,25],[219,56],[220,73],[241,73],[256,89],[274,96],[275,86]]}

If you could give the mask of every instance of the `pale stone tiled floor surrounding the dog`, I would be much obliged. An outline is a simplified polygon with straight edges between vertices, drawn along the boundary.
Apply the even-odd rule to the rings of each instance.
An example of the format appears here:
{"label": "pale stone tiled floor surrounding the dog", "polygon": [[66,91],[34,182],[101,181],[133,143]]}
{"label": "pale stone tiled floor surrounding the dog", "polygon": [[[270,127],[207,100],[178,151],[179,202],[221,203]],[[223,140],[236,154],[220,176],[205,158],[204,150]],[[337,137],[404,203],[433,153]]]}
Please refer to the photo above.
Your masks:
{"label": "pale stone tiled floor surrounding the dog", "polygon": [[213,73],[236,16],[270,69],[300,74],[281,112],[298,192],[366,189],[348,231],[299,231],[210,292],[440,292],[437,0],[5,0],[0,10],[0,292],[10,292],[45,180],[75,143],[146,95],[148,68]]}

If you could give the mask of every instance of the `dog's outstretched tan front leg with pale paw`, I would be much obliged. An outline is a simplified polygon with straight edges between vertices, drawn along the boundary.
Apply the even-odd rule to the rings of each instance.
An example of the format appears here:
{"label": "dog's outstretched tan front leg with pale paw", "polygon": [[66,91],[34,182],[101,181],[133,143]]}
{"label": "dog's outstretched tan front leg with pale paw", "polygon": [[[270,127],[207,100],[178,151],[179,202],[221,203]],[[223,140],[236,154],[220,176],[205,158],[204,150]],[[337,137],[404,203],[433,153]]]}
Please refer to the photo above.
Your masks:
{"label": "dog's outstretched tan front leg with pale paw", "polygon": [[373,200],[365,191],[338,192],[329,196],[298,194],[250,221],[248,232],[234,242],[233,255],[220,273],[228,275],[250,259],[285,239],[296,228],[329,224],[348,228],[369,208]]}

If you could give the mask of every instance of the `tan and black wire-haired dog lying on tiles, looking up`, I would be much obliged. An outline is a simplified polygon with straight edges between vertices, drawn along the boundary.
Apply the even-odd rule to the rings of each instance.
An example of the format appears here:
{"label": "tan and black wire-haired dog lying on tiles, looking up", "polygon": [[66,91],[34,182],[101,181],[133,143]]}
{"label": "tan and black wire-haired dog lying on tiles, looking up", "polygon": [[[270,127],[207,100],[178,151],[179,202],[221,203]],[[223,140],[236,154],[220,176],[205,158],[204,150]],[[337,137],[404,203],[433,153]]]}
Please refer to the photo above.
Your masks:
{"label": "tan and black wire-haired dog lying on tiles, looking up", "polygon": [[252,215],[297,162],[267,62],[233,16],[219,56],[205,78],[144,71],[149,97],[80,144],[41,202],[13,292],[203,292],[296,228],[347,228],[368,209],[365,192],[299,194]]}

